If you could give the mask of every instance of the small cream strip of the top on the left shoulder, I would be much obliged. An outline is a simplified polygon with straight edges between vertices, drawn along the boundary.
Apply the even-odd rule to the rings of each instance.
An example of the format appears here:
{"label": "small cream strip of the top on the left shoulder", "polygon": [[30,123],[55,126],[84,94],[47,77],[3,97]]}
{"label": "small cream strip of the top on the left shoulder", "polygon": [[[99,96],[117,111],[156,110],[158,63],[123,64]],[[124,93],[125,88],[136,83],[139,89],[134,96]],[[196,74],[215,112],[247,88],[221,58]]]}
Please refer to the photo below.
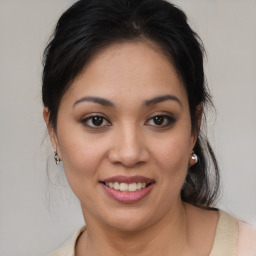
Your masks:
{"label": "small cream strip of the top on the left shoulder", "polygon": [[74,256],[75,245],[80,234],[86,229],[86,227],[80,228],[73,236],[67,240],[57,251],[51,253],[49,256]]}

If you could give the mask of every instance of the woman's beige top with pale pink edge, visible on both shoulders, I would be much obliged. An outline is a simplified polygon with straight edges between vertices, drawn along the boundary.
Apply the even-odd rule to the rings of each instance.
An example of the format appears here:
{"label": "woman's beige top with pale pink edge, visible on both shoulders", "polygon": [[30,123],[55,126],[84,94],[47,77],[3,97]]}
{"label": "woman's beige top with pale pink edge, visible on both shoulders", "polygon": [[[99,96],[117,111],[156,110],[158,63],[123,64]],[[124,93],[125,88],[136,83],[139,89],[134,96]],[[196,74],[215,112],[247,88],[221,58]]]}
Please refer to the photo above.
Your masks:
{"label": "woman's beige top with pale pink edge, visible on both shoulders", "polygon": [[[219,221],[209,256],[256,256],[256,229],[219,210]],[[85,226],[50,256],[75,256],[75,244]]]}

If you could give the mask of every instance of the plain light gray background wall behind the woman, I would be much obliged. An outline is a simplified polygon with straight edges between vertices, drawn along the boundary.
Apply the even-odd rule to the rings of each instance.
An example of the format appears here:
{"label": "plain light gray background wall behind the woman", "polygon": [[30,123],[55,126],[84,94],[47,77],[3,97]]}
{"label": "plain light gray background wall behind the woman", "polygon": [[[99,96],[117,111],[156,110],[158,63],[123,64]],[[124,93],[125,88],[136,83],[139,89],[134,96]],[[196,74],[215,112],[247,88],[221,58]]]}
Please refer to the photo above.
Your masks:
{"label": "plain light gray background wall behind the woman", "polygon": [[[40,98],[43,49],[73,2],[0,0],[0,256],[46,255],[83,225],[53,163]],[[173,2],[207,50],[217,112],[208,135],[223,181],[218,206],[256,225],[256,1]]]}

